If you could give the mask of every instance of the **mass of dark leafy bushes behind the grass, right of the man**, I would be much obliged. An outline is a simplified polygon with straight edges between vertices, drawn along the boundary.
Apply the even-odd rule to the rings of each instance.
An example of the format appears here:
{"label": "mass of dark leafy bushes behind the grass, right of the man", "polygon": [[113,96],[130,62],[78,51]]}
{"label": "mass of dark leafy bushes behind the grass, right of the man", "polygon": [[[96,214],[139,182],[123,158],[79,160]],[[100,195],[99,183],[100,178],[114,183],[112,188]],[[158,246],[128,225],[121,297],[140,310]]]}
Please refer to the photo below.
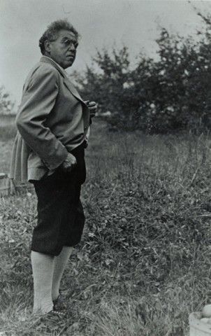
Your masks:
{"label": "mass of dark leafy bushes behind the grass, right of the man", "polygon": [[[100,113],[110,111],[112,125],[127,130],[169,132],[210,129],[211,20],[203,16],[201,38],[184,38],[161,29],[158,60],[143,54],[131,68],[126,46],[103,49],[76,74],[86,99],[99,102]],[[97,70],[96,70],[97,69]]]}

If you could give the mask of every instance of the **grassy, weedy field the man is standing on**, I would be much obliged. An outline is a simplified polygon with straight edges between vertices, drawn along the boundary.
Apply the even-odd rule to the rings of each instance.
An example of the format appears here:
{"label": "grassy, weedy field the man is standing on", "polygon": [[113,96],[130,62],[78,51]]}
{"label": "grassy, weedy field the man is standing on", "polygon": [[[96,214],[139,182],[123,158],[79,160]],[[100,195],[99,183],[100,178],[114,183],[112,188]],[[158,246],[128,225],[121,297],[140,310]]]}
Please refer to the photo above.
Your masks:
{"label": "grassy, weedy field the man is standing on", "polygon": [[[1,137],[0,172],[13,141]],[[210,302],[211,137],[108,132],[96,120],[86,227],[68,262],[63,321],[31,317],[36,197],[0,199],[1,336],[182,336]]]}

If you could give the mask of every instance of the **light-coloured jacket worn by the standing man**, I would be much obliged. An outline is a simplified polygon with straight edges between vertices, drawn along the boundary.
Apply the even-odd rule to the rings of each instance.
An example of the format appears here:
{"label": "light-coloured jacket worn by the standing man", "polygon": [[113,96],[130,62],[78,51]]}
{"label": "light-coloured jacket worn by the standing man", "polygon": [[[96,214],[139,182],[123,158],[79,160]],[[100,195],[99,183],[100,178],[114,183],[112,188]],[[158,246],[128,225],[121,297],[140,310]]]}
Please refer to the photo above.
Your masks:
{"label": "light-coloured jacket worn by the standing man", "polygon": [[41,57],[24,83],[10,178],[25,182],[53,172],[85,140],[89,120],[89,109],[65,71]]}

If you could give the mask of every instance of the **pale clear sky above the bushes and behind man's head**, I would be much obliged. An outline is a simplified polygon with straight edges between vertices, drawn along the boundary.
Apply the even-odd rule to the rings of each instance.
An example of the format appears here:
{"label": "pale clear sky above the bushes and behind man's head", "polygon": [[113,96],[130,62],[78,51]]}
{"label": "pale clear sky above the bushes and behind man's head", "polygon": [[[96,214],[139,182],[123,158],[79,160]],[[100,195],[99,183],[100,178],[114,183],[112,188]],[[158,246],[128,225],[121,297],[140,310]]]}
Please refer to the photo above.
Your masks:
{"label": "pale clear sky above the bushes and behind man's head", "polygon": [[196,36],[203,23],[193,6],[211,13],[211,0],[0,0],[0,86],[20,104],[27,73],[41,57],[38,40],[54,20],[67,18],[82,36],[71,74],[114,45],[129,47],[131,64],[141,51],[156,57],[159,27]]}

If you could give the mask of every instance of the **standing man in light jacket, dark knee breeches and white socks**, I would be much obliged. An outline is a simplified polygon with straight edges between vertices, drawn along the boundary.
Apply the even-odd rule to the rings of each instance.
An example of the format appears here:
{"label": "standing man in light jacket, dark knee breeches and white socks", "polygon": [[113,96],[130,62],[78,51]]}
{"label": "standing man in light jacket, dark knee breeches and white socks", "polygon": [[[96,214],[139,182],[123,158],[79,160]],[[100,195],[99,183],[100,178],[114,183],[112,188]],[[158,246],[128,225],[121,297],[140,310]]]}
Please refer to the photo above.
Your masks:
{"label": "standing man in light jacket, dark knee breeches and white socks", "polygon": [[78,32],[66,20],[52,22],[39,41],[40,62],[24,83],[17,114],[10,178],[30,181],[38,198],[31,242],[34,313],[60,314],[59,285],[85,216],[85,147],[95,102],[84,102],[64,69],[75,60]]}

